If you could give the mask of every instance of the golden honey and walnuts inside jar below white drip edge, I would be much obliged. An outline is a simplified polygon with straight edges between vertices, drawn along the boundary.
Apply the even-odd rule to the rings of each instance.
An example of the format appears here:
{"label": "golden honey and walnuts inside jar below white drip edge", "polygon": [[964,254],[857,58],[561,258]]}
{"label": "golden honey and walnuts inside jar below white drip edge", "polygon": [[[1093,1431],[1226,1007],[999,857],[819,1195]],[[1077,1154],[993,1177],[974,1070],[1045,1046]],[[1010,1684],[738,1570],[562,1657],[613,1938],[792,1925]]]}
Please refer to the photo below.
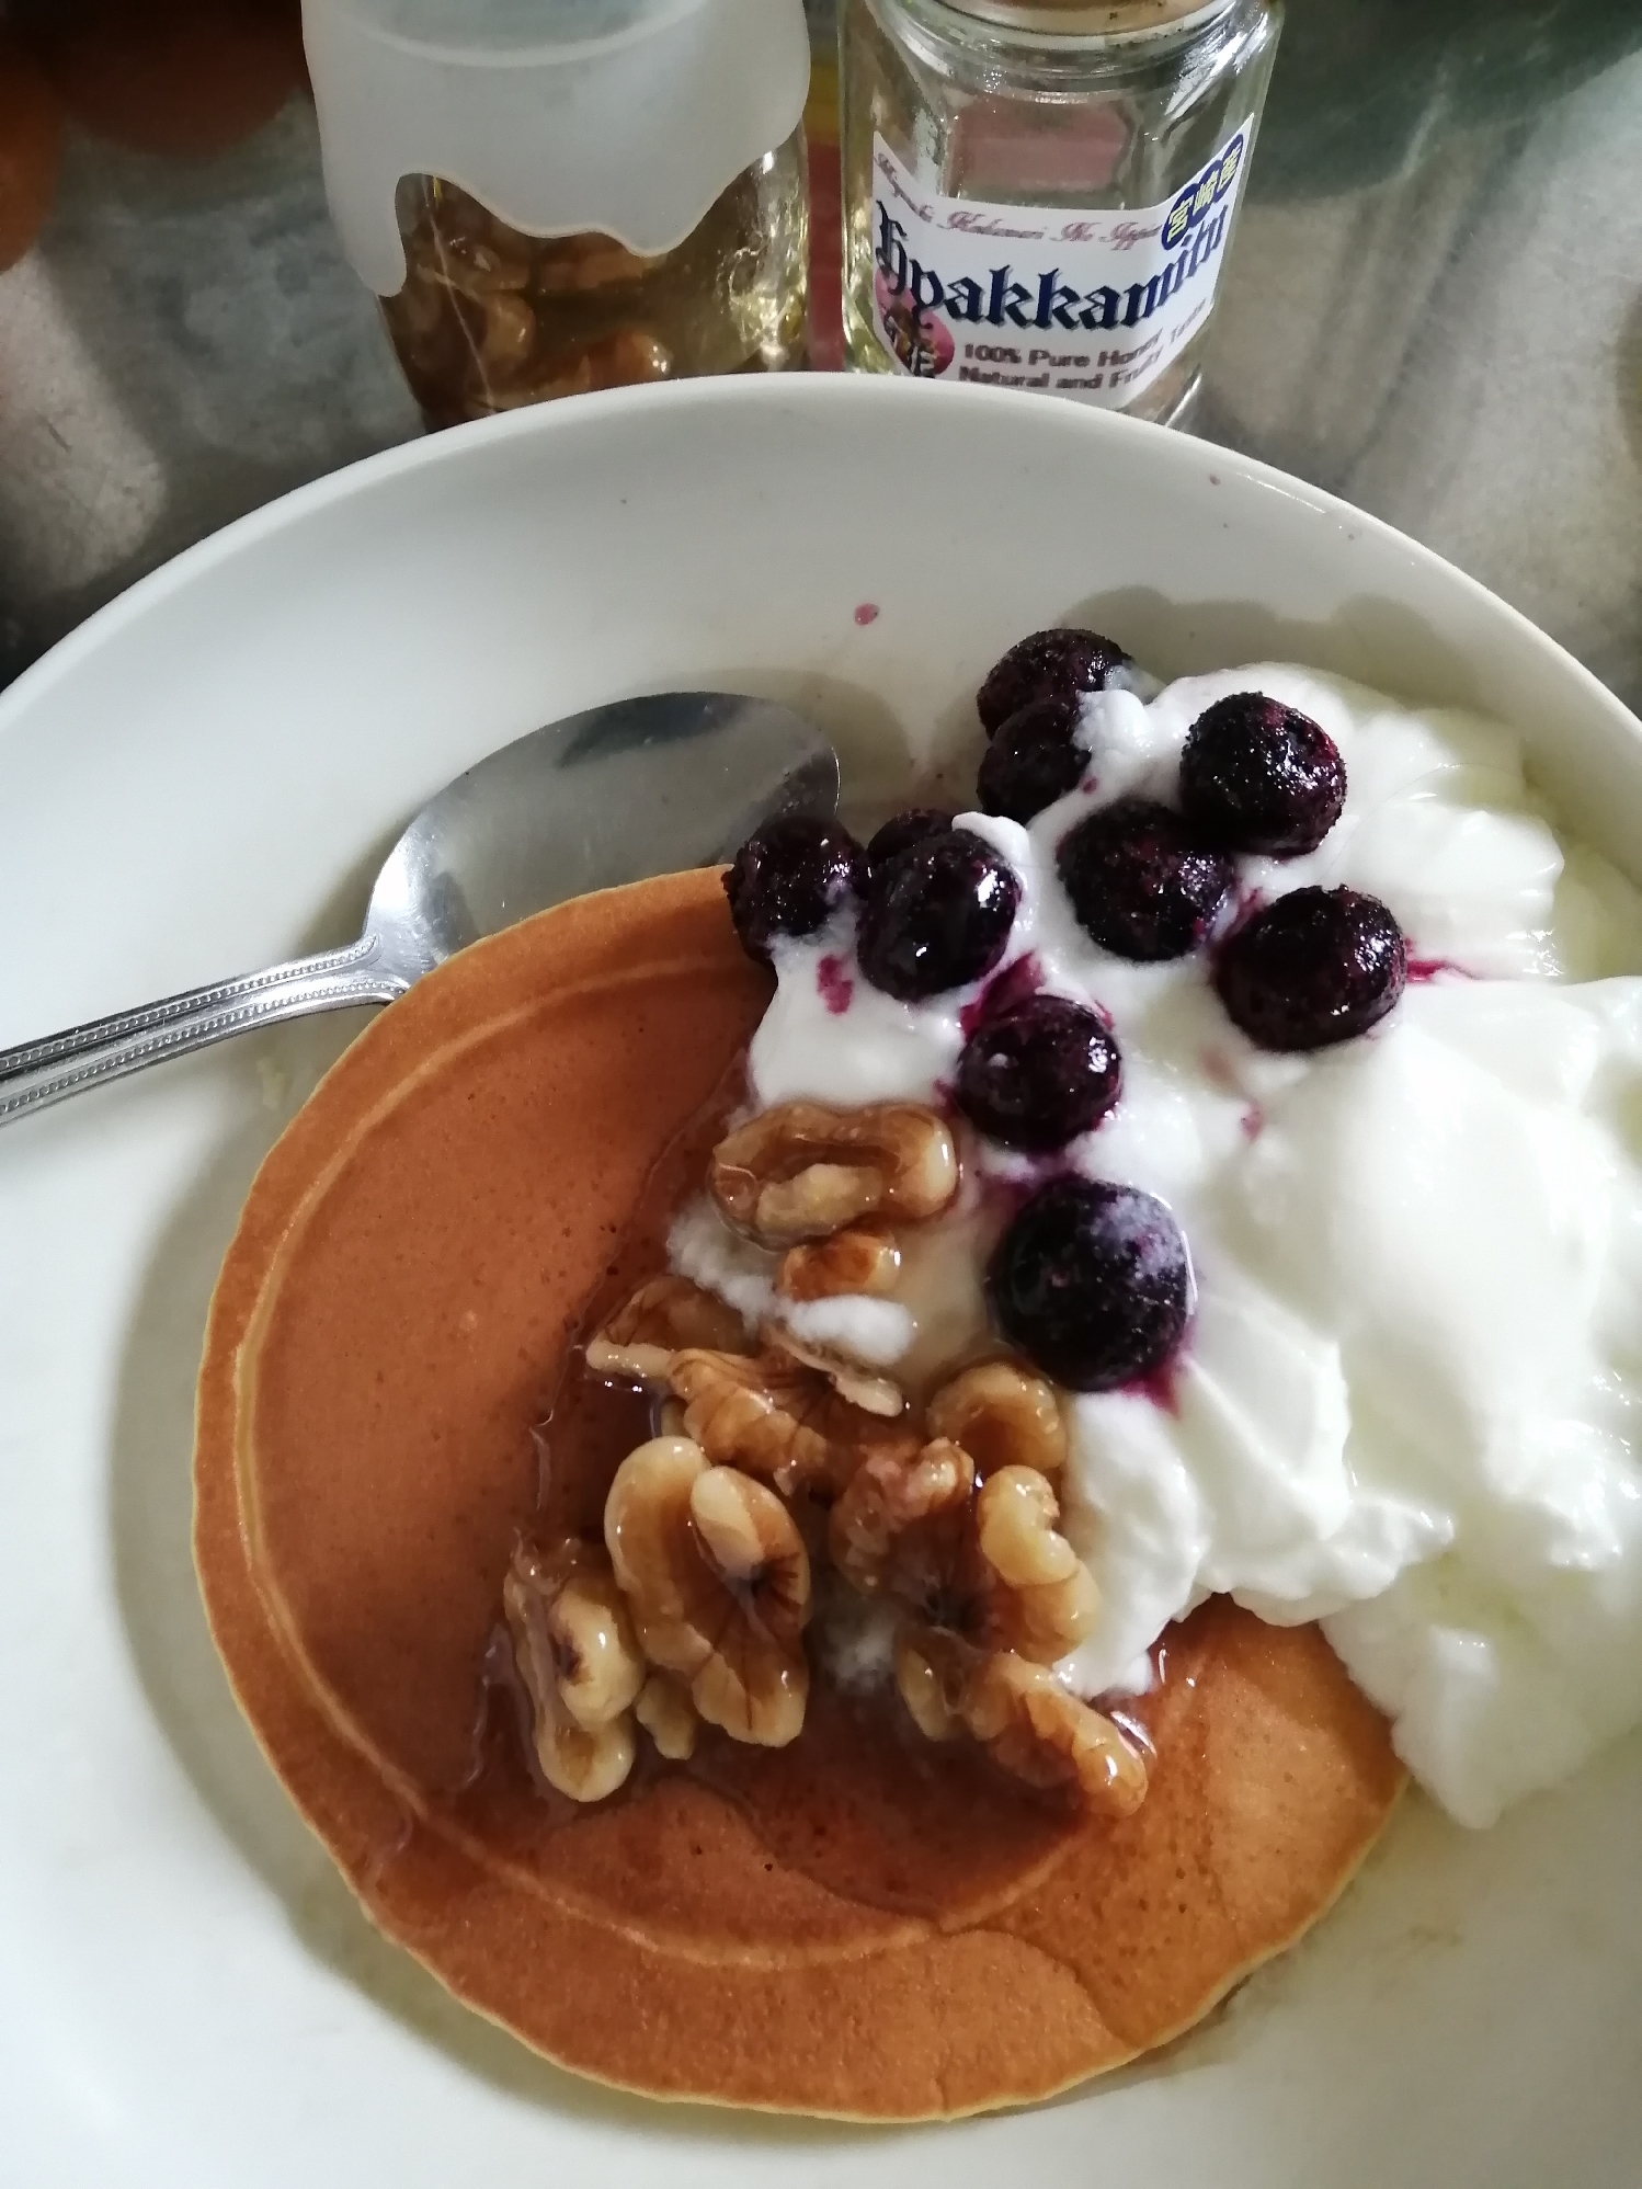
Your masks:
{"label": "golden honey and walnuts inside jar below white drip edge", "polygon": [[405,285],[383,317],[429,425],[554,396],[801,363],[803,136],[744,169],[670,252],[528,236],[431,175],[398,186]]}

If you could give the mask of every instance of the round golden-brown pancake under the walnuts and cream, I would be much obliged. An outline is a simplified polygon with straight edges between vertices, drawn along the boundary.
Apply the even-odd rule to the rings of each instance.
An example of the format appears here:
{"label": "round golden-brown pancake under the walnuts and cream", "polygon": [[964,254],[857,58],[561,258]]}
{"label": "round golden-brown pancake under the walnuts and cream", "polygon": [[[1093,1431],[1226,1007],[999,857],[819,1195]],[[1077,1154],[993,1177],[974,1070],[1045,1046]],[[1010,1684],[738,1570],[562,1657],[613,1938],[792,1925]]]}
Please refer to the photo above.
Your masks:
{"label": "round golden-brown pancake under the walnuts and cream", "polygon": [[595,1526],[648,1434],[567,1357],[587,1302],[659,1265],[766,998],[694,873],[543,913],[374,1020],[263,1165],[217,1285],[206,1607],[374,1922],[563,2066],[856,2119],[1036,2099],[1287,1946],[1401,1767],[1314,1629],[1217,1600],[1165,1637],[1123,1821],[825,1681],[788,1749],[714,1736],[672,1767],[646,1742],[589,1808],[530,1775],[495,1648],[514,1537],[543,1510]]}

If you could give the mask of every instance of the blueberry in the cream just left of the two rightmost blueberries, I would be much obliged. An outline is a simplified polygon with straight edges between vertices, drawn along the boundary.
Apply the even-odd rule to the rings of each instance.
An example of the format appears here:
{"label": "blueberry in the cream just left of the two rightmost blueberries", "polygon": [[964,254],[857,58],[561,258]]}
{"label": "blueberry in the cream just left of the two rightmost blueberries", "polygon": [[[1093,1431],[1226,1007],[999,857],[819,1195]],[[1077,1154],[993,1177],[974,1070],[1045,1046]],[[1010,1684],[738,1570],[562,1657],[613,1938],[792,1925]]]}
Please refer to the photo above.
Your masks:
{"label": "blueberry in the cream just left of the two rightmost blueberries", "polygon": [[1101,806],[1062,836],[1055,865],[1079,928],[1128,959],[1195,950],[1233,887],[1230,858],[1152,799]]}

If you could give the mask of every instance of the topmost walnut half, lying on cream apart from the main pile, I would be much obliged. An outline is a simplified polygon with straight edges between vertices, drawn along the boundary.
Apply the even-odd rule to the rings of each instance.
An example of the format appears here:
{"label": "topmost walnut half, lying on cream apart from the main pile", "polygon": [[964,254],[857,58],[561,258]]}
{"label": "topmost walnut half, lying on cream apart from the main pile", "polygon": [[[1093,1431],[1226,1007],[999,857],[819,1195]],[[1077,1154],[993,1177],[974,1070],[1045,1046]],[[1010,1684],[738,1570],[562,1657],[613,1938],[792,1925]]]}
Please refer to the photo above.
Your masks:
{"label": "topmost walnut half, lying on cream apart from the main pile", "polygon": [[764,1246],[828,1239],[860,1217],[933,1217],[959,1186],[946,1123],[917,1103],[777,1103],[714,1149],[707,1189]]}

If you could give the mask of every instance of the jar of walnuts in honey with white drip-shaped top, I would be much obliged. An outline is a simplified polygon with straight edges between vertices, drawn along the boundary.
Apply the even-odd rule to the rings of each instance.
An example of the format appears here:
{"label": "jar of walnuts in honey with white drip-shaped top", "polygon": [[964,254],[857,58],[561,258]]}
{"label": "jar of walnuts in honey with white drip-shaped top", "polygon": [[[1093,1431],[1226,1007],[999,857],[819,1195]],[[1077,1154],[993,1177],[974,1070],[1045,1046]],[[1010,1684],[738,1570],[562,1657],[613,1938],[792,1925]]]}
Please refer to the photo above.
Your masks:
{"label": "jar of walnuts in honey with white drip-shaped top", "polygon": [[429,422],[801,363],[801,0],[302,0],[302,31]]}

